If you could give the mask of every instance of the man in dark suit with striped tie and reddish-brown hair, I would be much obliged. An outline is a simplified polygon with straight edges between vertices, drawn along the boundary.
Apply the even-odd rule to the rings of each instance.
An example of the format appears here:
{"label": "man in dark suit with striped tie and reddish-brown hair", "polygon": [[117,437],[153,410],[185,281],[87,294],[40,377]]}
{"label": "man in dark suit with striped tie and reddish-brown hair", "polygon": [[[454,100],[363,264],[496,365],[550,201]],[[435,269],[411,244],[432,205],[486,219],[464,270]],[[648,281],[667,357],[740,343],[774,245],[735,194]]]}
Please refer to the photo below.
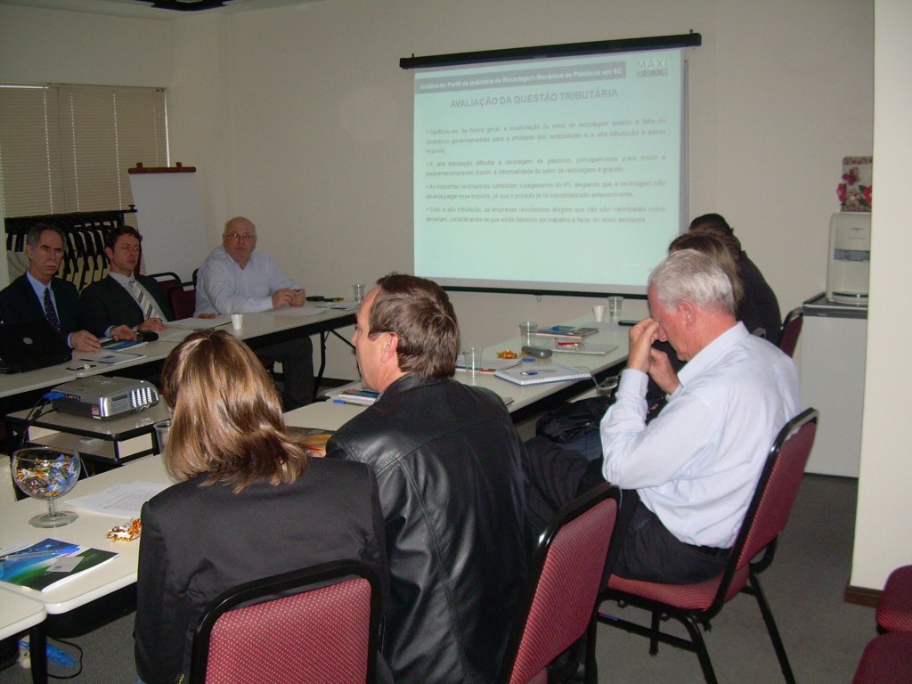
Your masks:
{"label": "man in dark suit with striped tie and reddish-brown hair", "polygon": [[98,337],[134,339],[135,330],[158,332],[174,318],[161,285],[136,273],[142,236],[130,225],[105,236],[109,274],[82,291],[82,321]]}

